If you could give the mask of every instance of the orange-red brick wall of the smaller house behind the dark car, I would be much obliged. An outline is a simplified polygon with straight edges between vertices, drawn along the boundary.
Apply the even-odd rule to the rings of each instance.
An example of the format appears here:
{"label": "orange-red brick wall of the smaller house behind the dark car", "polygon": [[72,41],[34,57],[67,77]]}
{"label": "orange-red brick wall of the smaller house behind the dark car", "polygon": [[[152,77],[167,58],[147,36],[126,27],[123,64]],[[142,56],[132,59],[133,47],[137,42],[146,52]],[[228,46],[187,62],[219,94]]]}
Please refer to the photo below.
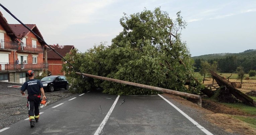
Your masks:
{"label": "orange-red brick wall of the smaller house behind the dark car", "polygon": [[48,59],[48,70],[54,75],[64,75],[62,70],[63,61],[61,59]]}

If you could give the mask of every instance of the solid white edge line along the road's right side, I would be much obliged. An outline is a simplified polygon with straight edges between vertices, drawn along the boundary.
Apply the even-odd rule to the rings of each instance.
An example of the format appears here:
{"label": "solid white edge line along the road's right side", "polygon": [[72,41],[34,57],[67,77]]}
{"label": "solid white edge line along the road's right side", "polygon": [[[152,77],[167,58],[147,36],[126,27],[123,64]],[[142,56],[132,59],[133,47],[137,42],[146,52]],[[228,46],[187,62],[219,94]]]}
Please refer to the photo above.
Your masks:
{"label": "solid white edge line along the road's right side", "polygon": [[170,101],[165,99],[162,95],[158,94],[162,99],[164,99],[167,103],[169,103],[172,107],[174,107],[177,111],[179,111],[183,116],[185,116],[189,121],[191,121],[195,126],[197,126],[199,129],[201,129],[206,135],[213,135],[211,132],[209,132],[207,129],[199,125],[195,120],[193,120],[191,117],[189,117],[187,114],[185,114],[183,111],[181,111],[178,107],[173,105]]}

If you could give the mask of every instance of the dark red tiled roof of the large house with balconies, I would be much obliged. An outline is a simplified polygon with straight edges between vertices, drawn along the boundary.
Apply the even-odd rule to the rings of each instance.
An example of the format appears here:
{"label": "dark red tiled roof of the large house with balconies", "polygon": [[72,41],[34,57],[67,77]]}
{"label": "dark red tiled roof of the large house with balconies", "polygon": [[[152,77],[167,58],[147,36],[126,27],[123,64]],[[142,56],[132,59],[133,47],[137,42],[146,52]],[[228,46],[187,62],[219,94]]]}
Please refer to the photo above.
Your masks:
{"label": "dark red tiled roof of the large house with balconies", "polygon": [[[9,24],[11,29],[17,35],[18,38],[22,39],[25,37],[30,31],[24,27],[22,24]],[[31,30],[35,27],[35,24],[26,24],[28,28]]]}

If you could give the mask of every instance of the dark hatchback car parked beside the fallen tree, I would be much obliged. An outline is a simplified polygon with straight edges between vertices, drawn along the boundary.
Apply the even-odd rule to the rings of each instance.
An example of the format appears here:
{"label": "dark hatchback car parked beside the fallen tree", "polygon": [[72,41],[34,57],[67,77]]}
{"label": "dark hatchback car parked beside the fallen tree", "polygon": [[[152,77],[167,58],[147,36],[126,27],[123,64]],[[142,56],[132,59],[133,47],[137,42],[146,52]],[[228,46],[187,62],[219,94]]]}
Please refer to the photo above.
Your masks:
{"label": "dark hatchback car parked beside the fallen tree", "polygon": [[69,89],[69,82],[65,76],[48,76],[41,79],[45,91],[53,92],[56,89]]}

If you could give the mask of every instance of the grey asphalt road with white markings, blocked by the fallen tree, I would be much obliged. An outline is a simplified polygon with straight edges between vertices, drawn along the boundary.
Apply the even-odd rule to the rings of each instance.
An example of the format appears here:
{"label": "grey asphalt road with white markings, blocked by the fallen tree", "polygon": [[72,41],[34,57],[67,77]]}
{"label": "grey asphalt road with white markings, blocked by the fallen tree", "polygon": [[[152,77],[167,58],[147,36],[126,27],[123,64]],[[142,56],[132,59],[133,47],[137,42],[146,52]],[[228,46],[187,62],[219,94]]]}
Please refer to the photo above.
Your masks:
{"label": "grey asphalt road with white markings, blocked by the fallen tree", "polygon": [[41,109],[34,128],[25,119],[0,129],[0,135],[213,134],[170,101],[161,95],[77,94]]}

